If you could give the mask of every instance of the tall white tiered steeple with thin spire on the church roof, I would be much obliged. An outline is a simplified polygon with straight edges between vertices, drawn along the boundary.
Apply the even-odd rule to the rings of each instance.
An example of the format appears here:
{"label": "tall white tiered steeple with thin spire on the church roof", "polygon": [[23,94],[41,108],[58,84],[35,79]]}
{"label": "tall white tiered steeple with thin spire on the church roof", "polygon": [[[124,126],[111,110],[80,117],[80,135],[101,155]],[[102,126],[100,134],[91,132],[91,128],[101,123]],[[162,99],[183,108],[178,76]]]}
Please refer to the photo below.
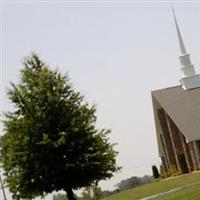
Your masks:
{"label": "tall white tiered steeple with thin spire on the church roof", "polygon": [[172,7],[172,12],[174,16],[179,46],[181,50],[181,56],[179,57],[179,59],[182,65],[181,67],[182,78],[180,80],[180,83],[185,90],[198,88],[200,87],[200,75],[196,74],[194,66],[191,64],[190,55],[186,51],[173,7]]}

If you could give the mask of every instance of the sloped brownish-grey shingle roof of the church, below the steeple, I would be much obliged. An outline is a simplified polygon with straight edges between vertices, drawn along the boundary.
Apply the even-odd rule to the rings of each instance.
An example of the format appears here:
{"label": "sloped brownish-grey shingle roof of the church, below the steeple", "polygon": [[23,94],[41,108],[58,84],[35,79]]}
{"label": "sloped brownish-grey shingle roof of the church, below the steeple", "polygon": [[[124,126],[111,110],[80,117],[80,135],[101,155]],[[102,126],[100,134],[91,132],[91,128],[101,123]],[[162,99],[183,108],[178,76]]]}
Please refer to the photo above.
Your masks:
{"label": "sloped brownish-grey shingle roof of the church, below the steeple", "polygon": [[176,86],[153,91],[152,96],[188,141],[200,140],[200,88]]}

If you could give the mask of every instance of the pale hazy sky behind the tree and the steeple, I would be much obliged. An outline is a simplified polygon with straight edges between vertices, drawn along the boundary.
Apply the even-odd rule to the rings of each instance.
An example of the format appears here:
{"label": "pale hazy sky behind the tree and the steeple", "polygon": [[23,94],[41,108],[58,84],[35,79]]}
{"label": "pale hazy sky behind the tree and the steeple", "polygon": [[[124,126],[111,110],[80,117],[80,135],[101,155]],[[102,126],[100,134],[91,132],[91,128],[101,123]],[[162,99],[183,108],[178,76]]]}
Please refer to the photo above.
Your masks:
{"label": "pale hazy sky behind the tree and the steeple", "polygon": [[[173,6],[200,72],[200,1]],[[170,2],[1,0],[0,46],[1,113],[13,109],[6,90],[19,81],[23,57],[34,51],[52,69],[69,73],[75,90],[97,105],[97,127],[112,130],[123,168],[100,182],[102,189],[159,166],[151,91],[181,78]]]}

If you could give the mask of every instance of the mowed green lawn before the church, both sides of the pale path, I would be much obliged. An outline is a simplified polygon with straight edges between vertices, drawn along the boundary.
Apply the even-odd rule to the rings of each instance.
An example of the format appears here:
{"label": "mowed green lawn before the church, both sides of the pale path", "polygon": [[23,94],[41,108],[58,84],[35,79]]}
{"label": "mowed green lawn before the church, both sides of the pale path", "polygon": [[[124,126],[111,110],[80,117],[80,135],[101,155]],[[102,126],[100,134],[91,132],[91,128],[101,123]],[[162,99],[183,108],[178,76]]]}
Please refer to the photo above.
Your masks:
{"label": "mowed green lawn before the church, both sides of the pale path", "polygon": [[[104,198],[103,200],[137,200],[142,199],[144,197],[148,197],[157,193],[166,192],[171,189],[186,186],[192,183],[196,183],[200,181],[200,172],[194,172],[192,174],[182,175],[178,177],[168,178],[161,181],[149,183],[146,185],[142,185],[130,190],[126,190],[115,194],[113,196]],[[185,197],[185,194],[190,193],[190,197]],[[172,198],[173,197],[173,198]],[[182,198],[183,197],[183,198]],[[193,197],[193,198],[192,198]],[[174,199],[174,200],[200,200],[200,184],[196,186],[192,186],[191,188],[185,188],[181,191],[174,192],[173,194],[167,194],[165,196],[161,196],[159,198],[155,198],[156,200],[161,199]]]}

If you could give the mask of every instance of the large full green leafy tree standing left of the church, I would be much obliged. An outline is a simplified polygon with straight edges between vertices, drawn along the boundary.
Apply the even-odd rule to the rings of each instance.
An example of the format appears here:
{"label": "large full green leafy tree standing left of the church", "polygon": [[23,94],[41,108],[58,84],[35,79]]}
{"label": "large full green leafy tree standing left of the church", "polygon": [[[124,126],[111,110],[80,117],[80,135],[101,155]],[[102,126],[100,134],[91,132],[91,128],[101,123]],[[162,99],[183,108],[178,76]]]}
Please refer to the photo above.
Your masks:
{"label": "large full green leafy tree standing left of the church", "polygon": [[32,54],[18,84],[8,96],[14,111],[6,113],[0,138],[0,161],[14,199],[34,198],[112,177],[119,170],[110,130],[95,127],[95,106],[76,92],[68,75],[50,70]]}

